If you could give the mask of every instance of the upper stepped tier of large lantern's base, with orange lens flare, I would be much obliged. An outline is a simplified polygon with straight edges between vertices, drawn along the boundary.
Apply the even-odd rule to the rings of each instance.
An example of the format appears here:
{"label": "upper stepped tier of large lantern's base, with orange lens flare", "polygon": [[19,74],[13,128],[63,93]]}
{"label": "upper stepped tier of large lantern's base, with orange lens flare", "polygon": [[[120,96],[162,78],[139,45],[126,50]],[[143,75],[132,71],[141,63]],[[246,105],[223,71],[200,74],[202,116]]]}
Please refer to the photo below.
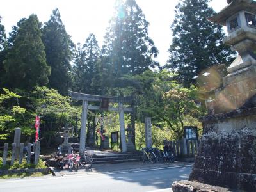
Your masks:
{"label": "upper stepped tier of large lantern's base, with orange lens flare", "polygon": [[256,107],[256,68],[223,78],[223,87],[215,92],[215,99],[207,102],[208,114],[220,114],[236,109]]}

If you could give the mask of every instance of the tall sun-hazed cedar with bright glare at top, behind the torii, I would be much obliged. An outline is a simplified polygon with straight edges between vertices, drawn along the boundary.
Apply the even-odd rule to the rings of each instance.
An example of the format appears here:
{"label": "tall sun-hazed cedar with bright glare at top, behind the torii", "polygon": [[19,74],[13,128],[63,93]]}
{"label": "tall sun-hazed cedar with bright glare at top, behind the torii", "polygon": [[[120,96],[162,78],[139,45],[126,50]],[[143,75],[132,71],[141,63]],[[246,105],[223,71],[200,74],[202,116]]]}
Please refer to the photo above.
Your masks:
{"label": "tall sun-hazed cedar with bright glare at top, behind the torii", "polygon": [[[111,78],[141,74],[159,65],[154,61],[158,51],[148,36],[148,22],[135,0],[116,1],[115,17],[107,28],[104,44],[103,52],[113,71]],[[120,86],[119,79],[116,83]]]}

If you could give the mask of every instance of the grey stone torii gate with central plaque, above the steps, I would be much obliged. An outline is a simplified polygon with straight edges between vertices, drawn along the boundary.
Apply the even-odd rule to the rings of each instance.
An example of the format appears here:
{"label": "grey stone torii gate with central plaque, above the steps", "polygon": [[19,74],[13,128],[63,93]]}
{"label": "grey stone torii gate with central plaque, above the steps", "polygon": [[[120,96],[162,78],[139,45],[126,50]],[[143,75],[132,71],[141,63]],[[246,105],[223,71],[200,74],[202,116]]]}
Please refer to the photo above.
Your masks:
{"label": "grey stone torii gate with central plaque, above the steps", "polygon": [[79,152],[83,152],[86,143],[86,122],[88,110],[100,110],[99,106],[88,105],[88,101],[99,101],[102,99],[108,99],[109,102],[118,103],[118,108],[108,107],[108,109],[103,109],[107,111],[119,112],[119,123],[120,123],[120,135],[122,152],[127,152],[126,139],[125,139],[125,125],[124,125],[124,111],[132,111],[133,108],[124,108],[124,103],[132,104],[132,97],[105,97],[100,95],[88,95],[84,93],[77,93],[68,91],[72,99],[83,100],[82,116],[81,116],[81,131],[80,131],[80,147]]}

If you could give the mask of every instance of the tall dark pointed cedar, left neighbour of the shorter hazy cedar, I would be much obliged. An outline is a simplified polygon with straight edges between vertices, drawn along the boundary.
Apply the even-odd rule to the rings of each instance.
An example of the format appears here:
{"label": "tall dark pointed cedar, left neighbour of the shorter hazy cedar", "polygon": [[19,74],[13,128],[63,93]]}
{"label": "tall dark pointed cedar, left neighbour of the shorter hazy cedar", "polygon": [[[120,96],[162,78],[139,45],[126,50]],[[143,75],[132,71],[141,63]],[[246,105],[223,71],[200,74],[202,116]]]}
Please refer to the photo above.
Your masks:
{"label": "tall dark pointed cedar, left neighbour of the shorter hazy cedar", "polygon": [[42,40],[47,63],[51,66],[49,87],[65,95],[70,83],[70,61],[74,44],[65,30],[58,9],[53,10],[51,19],[44,24]]}

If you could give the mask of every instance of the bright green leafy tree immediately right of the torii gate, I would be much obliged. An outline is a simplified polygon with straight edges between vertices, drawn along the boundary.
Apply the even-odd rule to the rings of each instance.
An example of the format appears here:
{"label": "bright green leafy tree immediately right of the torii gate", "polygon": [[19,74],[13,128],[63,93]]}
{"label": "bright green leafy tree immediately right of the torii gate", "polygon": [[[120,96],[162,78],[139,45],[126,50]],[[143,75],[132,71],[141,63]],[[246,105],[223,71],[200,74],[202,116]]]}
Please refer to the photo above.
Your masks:
{"label": "bright green leafy tree immediately right of the torii gate", "polygon": [[184,88],[174,78],[175,74],[166,70],[127,77],[136,100],[137,118],[143,122],[145,116],[150,116],[156,127],[167,127],[173,138],[182,138],[186,116],[196,118],[203,111],[198,88]]}

